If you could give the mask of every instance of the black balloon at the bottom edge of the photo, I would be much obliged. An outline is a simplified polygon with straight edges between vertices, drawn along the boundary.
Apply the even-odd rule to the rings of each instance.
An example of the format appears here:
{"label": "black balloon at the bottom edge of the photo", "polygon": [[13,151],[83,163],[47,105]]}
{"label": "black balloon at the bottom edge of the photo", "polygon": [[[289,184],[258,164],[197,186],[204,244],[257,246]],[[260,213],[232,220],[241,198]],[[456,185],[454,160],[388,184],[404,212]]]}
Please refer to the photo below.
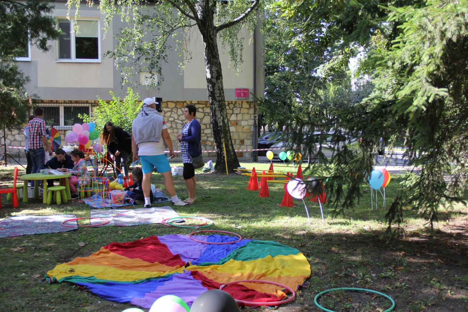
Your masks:
{"label": "black balloon at the bottom edge of the photo", "polygon": [[190,312],[240,312],[234,298],[224,290],[212,289],[197,297]]}

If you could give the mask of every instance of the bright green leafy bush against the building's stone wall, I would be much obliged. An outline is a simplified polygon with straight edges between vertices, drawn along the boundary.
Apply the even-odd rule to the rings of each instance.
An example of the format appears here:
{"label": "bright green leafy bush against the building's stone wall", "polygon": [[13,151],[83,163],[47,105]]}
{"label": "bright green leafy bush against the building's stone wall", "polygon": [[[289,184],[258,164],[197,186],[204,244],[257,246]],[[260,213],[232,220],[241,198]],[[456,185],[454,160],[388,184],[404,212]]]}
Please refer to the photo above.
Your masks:
{"label": "bright green leafy bush against the building's stone wall", "polygon": [[98,131],[102,131],[104,124],[110,121],[132,133],[132,121],[141,109],[139,94],[133,93],[133,89],[130,87],[127,88],[127,95],[123,100],[120,100],[112,91],[110,91],[110,94],[112,95],[110,102],[98,98],[99,103],[93,108],[91,117],[86,114],[78,116],[85,123],[94,122]]}

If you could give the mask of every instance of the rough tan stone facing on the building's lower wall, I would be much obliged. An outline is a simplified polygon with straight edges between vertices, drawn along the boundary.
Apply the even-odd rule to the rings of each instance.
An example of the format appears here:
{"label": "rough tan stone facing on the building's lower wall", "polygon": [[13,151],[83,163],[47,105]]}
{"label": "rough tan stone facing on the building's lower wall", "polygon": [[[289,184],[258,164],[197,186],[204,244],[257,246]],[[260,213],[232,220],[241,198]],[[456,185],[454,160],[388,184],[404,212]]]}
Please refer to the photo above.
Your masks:
{"label": "rough tan stone facing on the building's lower wall", "polygon": [[[97,101],[44,101],[47,104],[57,103],[89,103],[93,106]],[[214,151],[216,146],[214,144],[211,128],[210,105],[208,101],[164,101],[163,114],[168,130],[172,137],[173,147],[175,151],[180,150],[179,141],[176,139],[176,134],[182,130],[183,124],[186,120],[183,118],[183,108],[185,105],[193,104],[197,108],[197,119],[202,127],[202,150]],[[40,103],[37,104],[40,106]],[[234,148],[236,150],[252,149],[253,134],[254,134],[254,104],[250,101],[227,101],[226,102],[227,115],[230,123],[231,136],[233,139]],[[65,143],[66,130],[59,131],[62,137],[62,142]],[[24,146],[24,134],[16,129],[7,131],[6,143],[7,146]],[[3,144],[3,140],[1,142]],[[62,144],[63,145],[63,144]],[[222,147],[221,147],[222,149]],[[8,152],[13,157],[24,158],[24,149],[13,147],[8,148]],[[3,151],[3,150],[2,150]],[[216,158],[216,152],[204,153],[204,156]],[[252,152],[238,152],[238,157],[252,157]]]}

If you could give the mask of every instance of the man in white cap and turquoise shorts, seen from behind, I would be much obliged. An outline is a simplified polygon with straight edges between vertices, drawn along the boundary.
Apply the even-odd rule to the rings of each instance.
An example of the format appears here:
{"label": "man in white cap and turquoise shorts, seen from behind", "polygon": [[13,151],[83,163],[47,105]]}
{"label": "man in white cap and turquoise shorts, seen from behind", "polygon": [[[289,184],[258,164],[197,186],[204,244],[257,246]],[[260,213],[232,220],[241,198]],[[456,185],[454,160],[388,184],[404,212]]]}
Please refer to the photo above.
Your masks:
{"label": "man in white cap and turquoise shorts, seen from behind", "polygon": [[151,174],[153,168],[164,177],[164,186],[172,204],[185,206],[177,197],[174,181],[172,180],[171,166],[164,153],[164,143],[168,146],[171,157],[176,156],[172,148],[172,139],[164,118],[156,110],[156,102],[152,98],[143,101],[141,111],[132,122],[132,153],[133,161],[140,159],[143,170],[143,195],[145,207],[150,207]]}

